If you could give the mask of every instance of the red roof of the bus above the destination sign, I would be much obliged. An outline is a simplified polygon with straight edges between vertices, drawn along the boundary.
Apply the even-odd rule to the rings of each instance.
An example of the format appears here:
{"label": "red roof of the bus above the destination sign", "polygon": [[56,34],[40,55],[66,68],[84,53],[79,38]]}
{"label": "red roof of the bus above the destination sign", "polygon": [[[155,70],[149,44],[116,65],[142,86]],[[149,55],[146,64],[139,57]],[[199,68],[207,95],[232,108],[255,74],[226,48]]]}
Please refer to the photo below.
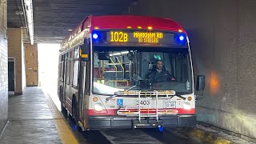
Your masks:
{"label": "red roof of the bus above the destination sign", "polygon": [[147,30],[148,26],[151,26],[153,30],[170,30],[184,32],[186,31],[174,20],[170,18],[156,18],[150,16],[138,16],[138,15],[105,15],[105,16],[88,16],[80,24],[70,32],[62,41],[62,47],[79,34],[82,30],[89,29],[89,32],[94,29],[128,29]]}

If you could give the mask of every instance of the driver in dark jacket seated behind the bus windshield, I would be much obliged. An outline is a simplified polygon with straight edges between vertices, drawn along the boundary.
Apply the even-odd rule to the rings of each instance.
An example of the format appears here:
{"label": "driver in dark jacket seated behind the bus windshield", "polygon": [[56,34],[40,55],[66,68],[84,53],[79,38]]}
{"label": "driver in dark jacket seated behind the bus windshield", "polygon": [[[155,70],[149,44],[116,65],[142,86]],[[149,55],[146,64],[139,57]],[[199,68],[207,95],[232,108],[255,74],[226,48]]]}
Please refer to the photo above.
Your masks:
{"label": "driver in dark jacket seated behind the bus windshield", "polygon": [[155,63],[155,69],[149,74],[150,83],[154,84],[158,82],[170,82],[176,80],[170,75],[169,71],[165,69],[162,60],[157,60]]}

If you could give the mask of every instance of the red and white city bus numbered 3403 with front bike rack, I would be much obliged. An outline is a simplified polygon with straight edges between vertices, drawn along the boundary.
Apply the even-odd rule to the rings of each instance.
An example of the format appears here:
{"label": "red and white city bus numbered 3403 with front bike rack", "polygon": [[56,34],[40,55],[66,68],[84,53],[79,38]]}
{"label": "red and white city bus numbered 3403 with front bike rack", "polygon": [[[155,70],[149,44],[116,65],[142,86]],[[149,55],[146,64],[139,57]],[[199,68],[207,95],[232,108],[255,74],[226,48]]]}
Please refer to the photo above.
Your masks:
{"label": "red and white city bus numbered 3403 with front bike rack", "polygon": [[[189,38],[177,22],[89,16],[61,46],[59,99],[82,130],[194,126]],[[204,82],[198,76],[198,90]]]}

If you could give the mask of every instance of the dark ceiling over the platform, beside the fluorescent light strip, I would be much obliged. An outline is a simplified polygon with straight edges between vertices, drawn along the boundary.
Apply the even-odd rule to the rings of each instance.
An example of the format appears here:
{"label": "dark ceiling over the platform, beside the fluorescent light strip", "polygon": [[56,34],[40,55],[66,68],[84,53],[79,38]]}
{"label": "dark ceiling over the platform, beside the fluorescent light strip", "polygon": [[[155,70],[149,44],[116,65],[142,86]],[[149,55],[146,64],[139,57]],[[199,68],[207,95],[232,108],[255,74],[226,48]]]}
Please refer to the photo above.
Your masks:
{"label": "dark ceiling over the platform, beside the fluorescent light strip", "polygon": [[[8,27],[24,27],[23,0],[8,0]],[[35,42],[60,42],[86,16],[129,14],[139,0],[34,0]],[[25,29],[26,30],[26,29]],[[27,34],[24,34],[27,41]]]}

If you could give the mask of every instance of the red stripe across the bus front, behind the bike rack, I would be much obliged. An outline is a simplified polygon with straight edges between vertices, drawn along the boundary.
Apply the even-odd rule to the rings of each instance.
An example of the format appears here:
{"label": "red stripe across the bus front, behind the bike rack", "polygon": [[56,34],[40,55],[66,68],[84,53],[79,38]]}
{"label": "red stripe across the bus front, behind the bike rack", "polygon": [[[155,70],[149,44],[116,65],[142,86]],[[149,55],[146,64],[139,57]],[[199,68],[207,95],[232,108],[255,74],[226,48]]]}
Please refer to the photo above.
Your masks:
{"label": "red stripe across the bus front, behind the bike rack", "polygon": [[[85,110],[85,114],[88,115],[118,115],[117,114],[117,110],[118,109],[104,109],[101,112],[97,112],[93,109],[86,109]],[[121,109],[121,110],[125,110],[125,109]],[[127,109],[130,111],[136,111],[138,109]],[[146,113],[148,111],[148,109],[141,109],[143,112],[142,113]],[[195,109],[192,108],[190,110],[184,110],[184,109],[158,109],[158,110],[178,110],[178,114],[195,114]],[[155,109],[150,109],[150,114],[153,114],[155,112]]]}

